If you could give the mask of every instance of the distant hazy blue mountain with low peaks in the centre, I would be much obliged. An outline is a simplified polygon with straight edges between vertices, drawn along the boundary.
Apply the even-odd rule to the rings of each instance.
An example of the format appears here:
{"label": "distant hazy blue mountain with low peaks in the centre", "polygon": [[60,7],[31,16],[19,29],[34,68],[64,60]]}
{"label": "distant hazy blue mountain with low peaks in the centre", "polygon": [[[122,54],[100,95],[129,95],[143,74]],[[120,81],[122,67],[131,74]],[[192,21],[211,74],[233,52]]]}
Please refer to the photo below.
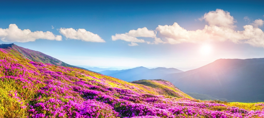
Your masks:
{"label": "distant hazy blue mountain with low peaks in the centre", "polygon": [[178,70],[176,68],[145,68],[145,67],[137,67],[127,70],[105,70],[100,71],[99,73],[116,77],[121,80],[125,80],[127,82],[135,81],[135,80],[154,80],[164,77],[170,73],[180,73],[182,70]]}

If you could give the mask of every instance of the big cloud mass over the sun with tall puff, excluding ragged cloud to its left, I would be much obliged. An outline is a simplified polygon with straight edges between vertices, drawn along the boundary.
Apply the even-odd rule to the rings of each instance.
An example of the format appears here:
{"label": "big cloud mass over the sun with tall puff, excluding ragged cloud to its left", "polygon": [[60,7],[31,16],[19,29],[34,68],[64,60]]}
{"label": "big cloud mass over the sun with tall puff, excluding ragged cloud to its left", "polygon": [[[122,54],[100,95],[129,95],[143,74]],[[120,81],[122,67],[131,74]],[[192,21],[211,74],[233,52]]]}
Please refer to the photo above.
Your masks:
{"label": "big cloud mass over the sun with tall puff, excluding ragged cloud to its left", "polygon": [[[201,43],[203,41],[232,41],[234,43],[249,43],[253,46],[264,47],[264,32],[258,28],[263,26],[263,20],[258,19],[243,26],[243,31],[235,31],[236,20],[230,13],[221,9],[210,11],[201,18],[208,22],[202,30],[188,31],[178,23],[159,25],[156,28],[163,43]],[[244,18],[245,20],[248,17]],[[161,41],[162,41],[161,40]]]}

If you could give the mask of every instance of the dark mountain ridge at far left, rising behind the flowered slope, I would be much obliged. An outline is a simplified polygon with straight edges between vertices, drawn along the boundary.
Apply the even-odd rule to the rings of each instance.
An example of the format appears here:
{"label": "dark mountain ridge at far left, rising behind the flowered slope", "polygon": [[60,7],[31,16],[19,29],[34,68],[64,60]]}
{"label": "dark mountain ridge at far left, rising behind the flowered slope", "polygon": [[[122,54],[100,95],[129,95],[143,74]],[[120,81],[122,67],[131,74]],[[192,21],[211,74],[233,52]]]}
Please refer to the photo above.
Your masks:
{"label": "dark mountain ridge at far left, rising behind the flowered slope", "polygon": [[[81,68],[81,67],[77,67],[74,65],[69,65],[67,63],[64,63],[61,60],[53,58],[39,51],[19,47],[15,45],[14,43],[0,44],[0,50],[4,53],[14,55],[15,57],[25,58],[25,59],[29,59],[29,60],[40,62],[40,63],[48,63],[48,64],[53,64],[53,65],[58,65],[58,66]],[[86,68],[81,68],[81,69],[88,70]]]}

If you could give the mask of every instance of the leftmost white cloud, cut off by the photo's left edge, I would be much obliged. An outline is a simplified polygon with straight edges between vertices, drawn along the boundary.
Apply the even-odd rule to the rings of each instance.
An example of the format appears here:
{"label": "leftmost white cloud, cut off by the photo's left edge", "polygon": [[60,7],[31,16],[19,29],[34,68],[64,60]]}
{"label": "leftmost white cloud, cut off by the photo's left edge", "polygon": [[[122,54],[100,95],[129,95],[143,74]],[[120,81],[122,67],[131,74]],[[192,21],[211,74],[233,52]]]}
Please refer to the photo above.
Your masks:
{"label": "leftmost white cloud, cut off by the photo's left edge", "polygon": [[29,42],[37,39],[48,39],[61,41],[60,35],[54,35],[50,31],[34,31],[31,32],[29,29],[21,30],[16,24],[10,24],[8,28],[0,28],[0,39],[4,42]]}

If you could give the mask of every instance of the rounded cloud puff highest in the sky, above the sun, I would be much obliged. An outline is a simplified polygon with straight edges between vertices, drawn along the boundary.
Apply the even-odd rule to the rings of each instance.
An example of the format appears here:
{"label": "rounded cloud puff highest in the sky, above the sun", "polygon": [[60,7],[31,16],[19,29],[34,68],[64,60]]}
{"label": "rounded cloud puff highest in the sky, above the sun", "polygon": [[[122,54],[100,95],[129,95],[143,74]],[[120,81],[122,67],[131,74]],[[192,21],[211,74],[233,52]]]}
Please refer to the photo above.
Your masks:
{"label": "rounded cloud puff highest in the sky, above the sun", "polygon": [[222,9],[216,9],[216,11],[210,11],[205,13],[200,20],[205,20],[208,22],[209,26],[219,26],[219,27],[228,27],[234,28],[234,23],[237,21],[233,16],[230,16],[230,13]]}

